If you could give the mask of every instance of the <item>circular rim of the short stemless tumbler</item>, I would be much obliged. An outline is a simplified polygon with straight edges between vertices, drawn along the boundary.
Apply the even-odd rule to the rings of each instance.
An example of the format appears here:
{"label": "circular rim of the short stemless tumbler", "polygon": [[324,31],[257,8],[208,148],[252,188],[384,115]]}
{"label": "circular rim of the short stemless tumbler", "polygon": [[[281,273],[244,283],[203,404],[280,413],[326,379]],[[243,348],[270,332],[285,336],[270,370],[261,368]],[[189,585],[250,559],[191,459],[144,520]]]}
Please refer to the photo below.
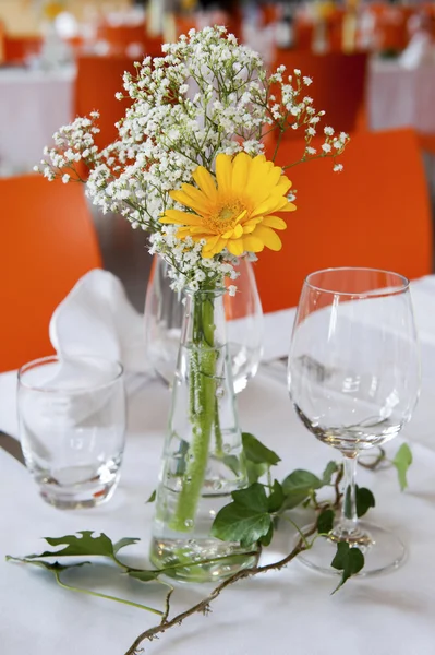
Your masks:
{"label": "circular rim of the short stemless tumbler", "polygon": [[[100,382],[98,384],[94,384],[92,386],[72,386],[71,389],[58,389],[57,386],[49,386],[48,384],[38,385],[38,384],[28,384],[24,382],[23,376],[40,366],[45,366],[47,364],[60,364],[62,361],[105,361],[107,364],[113,364],[117,366],[118,370],[110,376],[110,380],[106,382]],[[100,355],[47,355],[46,357],[38,357],[37,359],[32,359],[23,366],[20,367],[17,371],[17,382],[19,385],[27,391],[36,391],[39,393],[88,393],[90,391],[98,391],[100,389],[105,389],[107,386],[111,386],[114,382],[120,380],[124,374],[124,367],[118,359],[110,359],[108,357],[102,357]]]}

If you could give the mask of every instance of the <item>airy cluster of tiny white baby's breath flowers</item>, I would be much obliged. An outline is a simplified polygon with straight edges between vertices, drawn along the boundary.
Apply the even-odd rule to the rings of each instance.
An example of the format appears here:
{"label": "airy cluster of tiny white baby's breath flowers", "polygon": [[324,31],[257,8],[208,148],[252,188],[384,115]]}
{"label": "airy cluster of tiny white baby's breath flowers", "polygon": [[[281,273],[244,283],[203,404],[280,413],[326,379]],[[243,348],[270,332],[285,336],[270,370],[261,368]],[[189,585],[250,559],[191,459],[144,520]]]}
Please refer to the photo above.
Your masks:
{"label": "airy cluster of tiny white baby's breath flowers", "polygon": [[[150,251],[171,264],[174,286],[189,283],[195,288],[206,279],[235,278],[234,258],[222,251],[203,259],[201,243],[180,240],[176,227],[159,223],[167,209],[183,209],[171,200],[171,190],[192,183],[198,165],[214,174],[219,153],[262,153],[270,131],[303,126],[306,146],[301,162],[335,157],[348,136],[336,138],[325,128],[325,143],[316,154],[309,144],[324,112],[316,112],[310,97],[301,97],[311,79],[294,71],[294,78],[285,80],[285,67],[268,76],[261,57],[239,45],[225,27],[192,29],[164,46],[162,53],[136,63],[135,75],[124,74],[132,104],[117,126],[117,141],[98,151],[98,114],[77,118],[55,134],[56,147],[46,151],[39,170],[50,180],[81,180],[75,165],[84,163],[93,202],[105,213],[121,213],[133,228],[148,230]],[[336,164],[335,170],[339,167]]]}

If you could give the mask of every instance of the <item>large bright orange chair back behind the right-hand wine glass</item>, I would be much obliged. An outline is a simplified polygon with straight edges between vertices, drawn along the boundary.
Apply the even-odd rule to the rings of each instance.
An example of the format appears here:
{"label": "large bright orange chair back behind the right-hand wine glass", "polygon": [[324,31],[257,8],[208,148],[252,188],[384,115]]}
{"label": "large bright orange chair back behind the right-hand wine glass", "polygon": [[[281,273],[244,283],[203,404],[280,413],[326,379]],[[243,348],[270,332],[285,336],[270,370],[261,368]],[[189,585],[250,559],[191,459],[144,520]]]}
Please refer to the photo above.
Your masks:
{"label": "large bright orange chair back behind the right-hand wine glass", "polygon": [[[318,144],[317,144],[318,145]],[[300,158],[304,142],[286,142],[277,163]],[[410,278],[432,272],[432,218],[418,139],[411,130],[352,136],[340,157],[288,170],[298,210],[287,214],[282,249],[255,263],[266,312],[295,306],[304,277],[330,266],[373,266]]]}

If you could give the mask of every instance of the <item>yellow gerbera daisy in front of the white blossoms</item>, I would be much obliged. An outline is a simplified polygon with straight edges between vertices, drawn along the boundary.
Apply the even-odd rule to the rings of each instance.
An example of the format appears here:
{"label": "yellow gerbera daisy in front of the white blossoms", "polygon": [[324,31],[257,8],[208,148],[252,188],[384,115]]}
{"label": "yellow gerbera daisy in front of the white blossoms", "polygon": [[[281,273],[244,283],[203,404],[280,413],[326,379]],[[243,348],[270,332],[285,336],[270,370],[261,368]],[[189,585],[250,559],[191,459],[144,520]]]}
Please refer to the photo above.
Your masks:
{"label": "yellow gerbera daisy in front of the white blossoms", "polygon": [[197,187],[183,184],[170,196],[191,212],[167,210],[160,223],[179,225],[177,236],[195,241],[205,239],[202,254],[210,258],[228,248],[235,255],[244,251],[261,252],[281,249],[281,239],[274,231],[286,229],[286,222],[276,212],[293,212],[287,200],[291,181],[282,169],[267,162],[264,155],[216,157],[216,181],[204,166],[192,174]]}

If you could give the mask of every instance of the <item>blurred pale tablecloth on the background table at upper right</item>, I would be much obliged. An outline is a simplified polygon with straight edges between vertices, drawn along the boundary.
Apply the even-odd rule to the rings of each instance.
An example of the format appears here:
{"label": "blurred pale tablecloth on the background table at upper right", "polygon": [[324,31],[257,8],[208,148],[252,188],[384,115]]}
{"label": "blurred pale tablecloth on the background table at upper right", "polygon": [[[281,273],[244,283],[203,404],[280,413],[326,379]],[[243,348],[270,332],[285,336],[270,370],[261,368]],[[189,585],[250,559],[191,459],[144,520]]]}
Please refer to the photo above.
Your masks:
{"label": "blurred pale tablecloth on the background table at upper right", "polygon": [[372,60],[367,106],[372,130],[411,127],[435,134],[435,63],[408,70],[397,60]]}

